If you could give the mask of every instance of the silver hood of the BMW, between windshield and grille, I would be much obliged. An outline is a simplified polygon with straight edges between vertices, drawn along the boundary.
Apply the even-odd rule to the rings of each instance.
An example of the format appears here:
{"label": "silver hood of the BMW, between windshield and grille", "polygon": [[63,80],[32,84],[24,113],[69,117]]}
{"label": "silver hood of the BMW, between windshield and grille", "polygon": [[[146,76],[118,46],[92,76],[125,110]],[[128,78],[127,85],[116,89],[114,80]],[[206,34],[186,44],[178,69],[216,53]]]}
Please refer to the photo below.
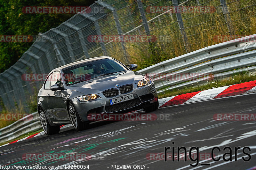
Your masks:
{"label": "silver hood of the BMW, between windshield and grille", "polygon": [[74,90],[84,94],[97,94],[115,88],[115,85],[120,87],[122,85],[135,84],[142,79],[144,79],[143,74],[127,70],[70,85],[67,90]]}

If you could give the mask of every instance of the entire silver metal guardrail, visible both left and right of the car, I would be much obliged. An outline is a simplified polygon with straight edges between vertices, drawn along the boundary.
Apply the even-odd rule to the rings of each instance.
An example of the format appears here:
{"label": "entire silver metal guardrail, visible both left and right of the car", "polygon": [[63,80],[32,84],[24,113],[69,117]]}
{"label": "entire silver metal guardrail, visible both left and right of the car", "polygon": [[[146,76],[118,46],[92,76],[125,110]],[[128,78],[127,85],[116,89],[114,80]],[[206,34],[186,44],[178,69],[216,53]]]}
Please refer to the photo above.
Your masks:
{"label": "entire silver metal guardrail, visible both left and right of the car", "polygon": [[[208,75],[197,79],[191,79],[190,81],[188,81],[188,79],[169,80],[161,79],[161,77],[155,78],[154,82],[156,89],[158,90],[157,92],[164,92],[186,85],[204,83],[208,81],[212,75],[214,75],[215,78],[220,78],[242,71],[255,71],[256,66],[253,65],[256,65],[256,50],[254,50],[256,49],[256,42],[249,41],[252,38],[256,40],[256,34],[244,38],[243,41],[245,42],[241,42],[241,39],[236,39],[212,45],[152,65],[148,68],[139,70],[138,72],[149,75],[168,75],[169,77],[178,74],[191,75],[191,77],[193,77],[193,74],[197,74],[199,77],[200,75]],[[167,88],[162,89],[164,87]],[[24,133],[41,129],[38,113],[32,113],[31,115],[28,115],[28,118],[29,116],[32,116],[33,119],[30,121],[19,120],[0,129],[0,143],[12,140]]]}

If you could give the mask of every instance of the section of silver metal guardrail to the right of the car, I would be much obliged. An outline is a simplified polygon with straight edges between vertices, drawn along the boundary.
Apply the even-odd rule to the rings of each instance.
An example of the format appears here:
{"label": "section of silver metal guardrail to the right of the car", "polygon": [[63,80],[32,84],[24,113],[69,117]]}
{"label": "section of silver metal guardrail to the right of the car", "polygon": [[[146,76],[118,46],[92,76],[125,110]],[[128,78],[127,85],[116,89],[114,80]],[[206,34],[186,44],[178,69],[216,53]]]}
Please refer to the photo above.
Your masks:
{"label": "section of silver metal guardrail to the right of the car", "polygon": [[[254,41],[250,41],[253,39]],[[256,34],[253,34],[246,38],[212,45],[157,63],[138,72],[153,76],[157,92],[164,92],[185,85],[204,83],[211,79],[211,77],[220,78],[235,72],[252,71],[254,67],[240,68],[256,64],[255,39]],[[186,78],[178,78],[176,75],[186,75]]]}

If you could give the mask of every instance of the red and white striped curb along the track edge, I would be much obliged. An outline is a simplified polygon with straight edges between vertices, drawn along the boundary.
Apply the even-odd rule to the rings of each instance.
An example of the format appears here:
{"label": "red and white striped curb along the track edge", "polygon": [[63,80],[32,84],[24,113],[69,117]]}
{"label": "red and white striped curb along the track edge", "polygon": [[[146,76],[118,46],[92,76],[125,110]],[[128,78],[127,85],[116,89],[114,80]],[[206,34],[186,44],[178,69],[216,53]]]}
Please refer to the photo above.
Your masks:
{"label": "red and white striped curb along the track edge", "polygon": [[[174,105],[186,104],[186,103],[202,101],[202,100],[217,99],[217,98],[235,96],[240,94],[248,94],[253,92],[256,92],[256,80],[241,83],[241,84],[236,84],[236,85],[228,85],[224,87],[212,88],[212,89],[199,91],[199,92],[192,92],[192,93],[180,94],[177,96],[166,97],[164,99],[159,99],[159,107],[174,106]],[[142,109],[137,110],[137,112],[138,111],[142,111]],[[62,125],[60,128],[65,129],[71,126],[72,125]],[[33,137],[38,137],[41,135],[45,135],[44,131],[36,133],[29,137],[25,137],[20,140],[13,141],[9,144],[27,140]],[[5,146],[5,145],[8,145],[8,144],[4,144],[2,146]]]}

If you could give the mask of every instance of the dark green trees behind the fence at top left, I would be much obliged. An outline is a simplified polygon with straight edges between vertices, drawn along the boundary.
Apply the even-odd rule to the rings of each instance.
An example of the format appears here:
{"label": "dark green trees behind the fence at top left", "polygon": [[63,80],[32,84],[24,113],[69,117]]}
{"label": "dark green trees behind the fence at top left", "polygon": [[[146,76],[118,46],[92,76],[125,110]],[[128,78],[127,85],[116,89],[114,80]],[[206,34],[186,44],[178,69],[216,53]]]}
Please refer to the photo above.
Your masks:
{"label": "dark green trees behind the fence at top left", "polygon": [[[89,6],[93,0],[0,1],[0,35],[38,35],[59,26],[74,14],[25,14],[24,6]],[[0,42],[0,72],[8,69],[33,42]]]}

